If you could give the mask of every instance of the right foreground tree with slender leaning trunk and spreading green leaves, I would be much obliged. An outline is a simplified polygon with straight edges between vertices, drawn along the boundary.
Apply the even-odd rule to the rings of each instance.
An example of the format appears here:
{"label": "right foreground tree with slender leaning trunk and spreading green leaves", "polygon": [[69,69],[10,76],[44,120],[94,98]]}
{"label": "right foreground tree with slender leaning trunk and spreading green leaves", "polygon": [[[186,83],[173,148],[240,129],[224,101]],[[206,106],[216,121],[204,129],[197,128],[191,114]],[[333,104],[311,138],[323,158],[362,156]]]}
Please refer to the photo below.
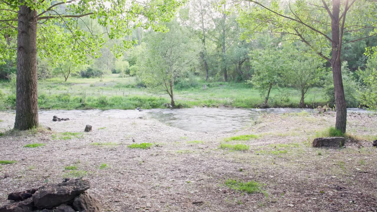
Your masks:
{"label": "right foreground tree with slender leaning trunk and spreading green leaves", "polygon": [[[255,31],[286,34],[290,36],[287,40],[304,42],[331,64],[337,110],[335,126],[345,132],[347,108],[340,60],[342,45],[374,36],[376,32],[350,41],[343,41],[343,34],[345,31],[360,32],[376,27],[372,14],[377,4],[362,0],[304,0],[288,3],[283,8],[275,1],[245,1],[254,3],[254,7],[252,10],[242,11],[239,18],[240,24],[248,29],[244,35],[255,34]],[[328,54],[329,51],[331,54]]]}

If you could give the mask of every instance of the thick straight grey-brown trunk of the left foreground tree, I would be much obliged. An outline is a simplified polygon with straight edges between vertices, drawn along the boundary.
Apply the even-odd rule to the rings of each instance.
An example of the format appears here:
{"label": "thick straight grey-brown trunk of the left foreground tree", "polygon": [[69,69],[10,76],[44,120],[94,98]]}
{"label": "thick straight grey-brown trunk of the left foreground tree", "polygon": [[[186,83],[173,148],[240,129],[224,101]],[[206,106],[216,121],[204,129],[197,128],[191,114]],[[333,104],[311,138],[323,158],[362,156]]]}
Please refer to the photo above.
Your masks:
{"label": "thick straight grey-brown trunk of the left foreground tree", "polygon": [[17,98],[14,128],[38,126],[37,11],[20,6],[17,34]]}

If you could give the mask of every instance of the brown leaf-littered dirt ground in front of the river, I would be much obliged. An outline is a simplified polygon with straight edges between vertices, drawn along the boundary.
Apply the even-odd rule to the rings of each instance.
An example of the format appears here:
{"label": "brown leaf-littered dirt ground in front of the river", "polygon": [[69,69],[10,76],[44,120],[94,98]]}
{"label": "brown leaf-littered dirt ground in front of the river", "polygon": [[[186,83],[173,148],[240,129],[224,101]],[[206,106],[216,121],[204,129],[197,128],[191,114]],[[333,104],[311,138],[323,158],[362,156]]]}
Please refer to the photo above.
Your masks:
{"label": "brown leaf-littered dirt ground in front of the river", "polygon": [[[377,211],[377,115],[349,114],[348,133],[363,141],[342,149],[310,145],[316,131],[334,125],[334,113],[265,114],[227,134],[183,131],[137,115],[69,118],[40,117],[52,132],[0,136],[0,160],[17,161],[0,164],[0,205],[9,202],[10,192],[83,177],[103,211]],[[12,128],[14,114],[0,112],[0,119],[0,132]],[[83,132],[86,124],[92,132]],[[258,137],[224,141],[248,134]],[[143,142],[154,145],[127,147]],[[46,145],[23,147],[32,143]],[[250,149],[220,149],[221,143]],[[225,185],[228,179],[257,181],[264,192],[233,190]]]}

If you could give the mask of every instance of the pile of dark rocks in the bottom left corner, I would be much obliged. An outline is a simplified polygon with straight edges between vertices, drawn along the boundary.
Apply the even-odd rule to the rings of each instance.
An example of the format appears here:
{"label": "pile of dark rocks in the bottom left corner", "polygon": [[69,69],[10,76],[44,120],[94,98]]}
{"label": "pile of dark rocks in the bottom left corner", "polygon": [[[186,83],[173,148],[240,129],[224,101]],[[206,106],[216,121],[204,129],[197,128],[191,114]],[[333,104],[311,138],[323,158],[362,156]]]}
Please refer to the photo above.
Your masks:
{"label": "pile of dark rocks in the bottom left corner", "polygon": [[66,179],[59,184],[14,192],[8,200],[15,202],[0,207],[0,212],[100,212],[100,201],[86,192],[89,187],[87,180]]}

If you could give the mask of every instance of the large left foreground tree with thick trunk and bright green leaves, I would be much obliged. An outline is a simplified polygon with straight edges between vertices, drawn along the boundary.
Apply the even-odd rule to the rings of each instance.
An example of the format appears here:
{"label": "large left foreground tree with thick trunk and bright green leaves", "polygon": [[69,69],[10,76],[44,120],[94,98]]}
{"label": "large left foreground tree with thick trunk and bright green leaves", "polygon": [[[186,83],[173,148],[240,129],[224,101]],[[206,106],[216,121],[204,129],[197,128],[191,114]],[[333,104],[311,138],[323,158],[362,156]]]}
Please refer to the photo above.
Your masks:
{"label": "large left foreground tree with thick trunk and bright green leaves", "polygon": [[[104,35],[96,34],[90,25],[86,25],[89,32],[80,29],[77,22],[81,18],[98,20],[106,28],[107,36],[115,39],[131,34],[133,27],[165,31],[160,23],[171,20],[181,4],[179,0],[1,0],[0,59],[17,52],[14,128],[26,130],[38,126],[37,48],[62,59],[72,57],[60,52],[65,45],[72,44],[77,51],[74,62],[98,57],[96,52],[106,43]],[[126,40],[113,50],[130,48],[134,43]]]}

